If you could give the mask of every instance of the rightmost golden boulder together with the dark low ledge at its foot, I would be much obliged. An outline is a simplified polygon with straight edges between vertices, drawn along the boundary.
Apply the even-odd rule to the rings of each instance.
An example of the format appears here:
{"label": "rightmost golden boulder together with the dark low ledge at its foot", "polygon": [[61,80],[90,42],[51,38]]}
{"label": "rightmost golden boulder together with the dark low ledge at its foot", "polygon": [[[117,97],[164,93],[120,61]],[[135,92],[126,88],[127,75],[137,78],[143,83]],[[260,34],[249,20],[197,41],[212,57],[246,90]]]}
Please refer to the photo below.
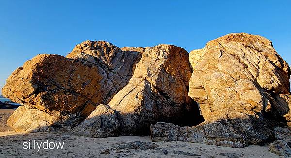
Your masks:
{"label": "rightmost golden boulder together with the dark low ledge at its foot", "polygon": [[153,141],[191,141],[244,147],[274,139],[269,121],[290,121],[288,64],[271,41],[246,33],[228,34],[191,51],[189,96],[205,122],[193,127],[152,125]]}

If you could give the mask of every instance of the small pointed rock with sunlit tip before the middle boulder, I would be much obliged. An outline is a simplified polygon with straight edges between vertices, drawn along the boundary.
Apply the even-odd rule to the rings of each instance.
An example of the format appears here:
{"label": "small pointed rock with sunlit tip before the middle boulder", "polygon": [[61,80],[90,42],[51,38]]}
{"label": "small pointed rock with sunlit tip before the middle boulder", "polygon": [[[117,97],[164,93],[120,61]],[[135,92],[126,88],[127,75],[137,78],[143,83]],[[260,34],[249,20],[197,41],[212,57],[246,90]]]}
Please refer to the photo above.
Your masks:
{"label": "small pointed rock with sunlit tip before the middle boulder", "polygon": [[81,124],[74,127],[71,133],[93,138],[113,137],[118,136],[119,127],[117,111],[100,104]]}

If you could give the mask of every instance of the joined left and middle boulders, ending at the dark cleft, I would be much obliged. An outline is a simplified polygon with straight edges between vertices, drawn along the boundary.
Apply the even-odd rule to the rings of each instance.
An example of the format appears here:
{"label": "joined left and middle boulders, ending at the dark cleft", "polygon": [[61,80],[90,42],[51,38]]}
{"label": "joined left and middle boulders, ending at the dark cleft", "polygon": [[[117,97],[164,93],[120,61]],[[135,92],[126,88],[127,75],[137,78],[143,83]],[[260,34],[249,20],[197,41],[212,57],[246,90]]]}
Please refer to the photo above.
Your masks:
{"label": "joined left and middle boulders, ending at the dark cleft", "polygon": [[73,134],[99,138],[146,135],[150,124],[182,125],[191,115],[197,122],[197,104],[187,95],[188,56],[173,45],[119,49],[104,41],[85,41],[67,57],[38,55],[3,88],[24,105],[8,125],[26,132],[75,127]]}

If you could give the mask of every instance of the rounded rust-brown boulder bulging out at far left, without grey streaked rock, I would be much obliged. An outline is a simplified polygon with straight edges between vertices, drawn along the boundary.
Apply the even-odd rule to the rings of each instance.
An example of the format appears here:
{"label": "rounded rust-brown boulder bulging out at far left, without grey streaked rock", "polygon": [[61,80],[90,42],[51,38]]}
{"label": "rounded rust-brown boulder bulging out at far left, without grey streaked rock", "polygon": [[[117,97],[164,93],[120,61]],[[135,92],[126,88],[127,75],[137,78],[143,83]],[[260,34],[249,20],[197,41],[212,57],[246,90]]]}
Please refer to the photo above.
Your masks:
{"label": "rounded rust-brown boulder bulging out at far left, without grey streaked rock", "polygon": [[[88,77],[92,79],[89,81]],[[55,124],[63,122],[60,127],[67,128],[95,109],[99,98],[90,95],[102,88],[99,83],[102,79],[98,68],[92,64],[84,65],[59,55],[42,54],[16,69],[7,79],[2,92],[10,100],[25,105],[26,109],[33,108],[33,112],[27,111],[31,115],[42,113],[46,115],[43,117],[52,117]],[[21,121],[13,120],[15,125],[11,127],[17,131],[34,131],[31,129],[35,125],[28,122],[27,126],[20,126]]]}

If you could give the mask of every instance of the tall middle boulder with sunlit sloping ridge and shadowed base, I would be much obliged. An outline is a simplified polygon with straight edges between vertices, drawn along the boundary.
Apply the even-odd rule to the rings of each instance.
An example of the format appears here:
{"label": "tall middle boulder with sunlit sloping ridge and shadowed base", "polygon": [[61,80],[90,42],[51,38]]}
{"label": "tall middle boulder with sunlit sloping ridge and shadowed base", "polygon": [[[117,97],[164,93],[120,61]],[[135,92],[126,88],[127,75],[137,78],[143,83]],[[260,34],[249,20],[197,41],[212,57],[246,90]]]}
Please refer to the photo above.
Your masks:
{"label": "tall middle boulder with sunlit sloping ridge and shadowed base", "polygon": [[[200,121],[198,106],[187,95],[192,73],[187,51],[165,44],[146,48],[124,47],[122,50],[141,52],[142,58],[136,64],[129,83],[108,103],[111,109],[118,111],[119,134],[147,135],[150,125],[157,121],[178,125]],[[90,117],[100,117],[97,111]],[[99,124],[98,121],[94,124]],[[85,128],[88,125],[81,123],[77,127]],[[91,128],[88,132],[89,135],[97,134]]]}

